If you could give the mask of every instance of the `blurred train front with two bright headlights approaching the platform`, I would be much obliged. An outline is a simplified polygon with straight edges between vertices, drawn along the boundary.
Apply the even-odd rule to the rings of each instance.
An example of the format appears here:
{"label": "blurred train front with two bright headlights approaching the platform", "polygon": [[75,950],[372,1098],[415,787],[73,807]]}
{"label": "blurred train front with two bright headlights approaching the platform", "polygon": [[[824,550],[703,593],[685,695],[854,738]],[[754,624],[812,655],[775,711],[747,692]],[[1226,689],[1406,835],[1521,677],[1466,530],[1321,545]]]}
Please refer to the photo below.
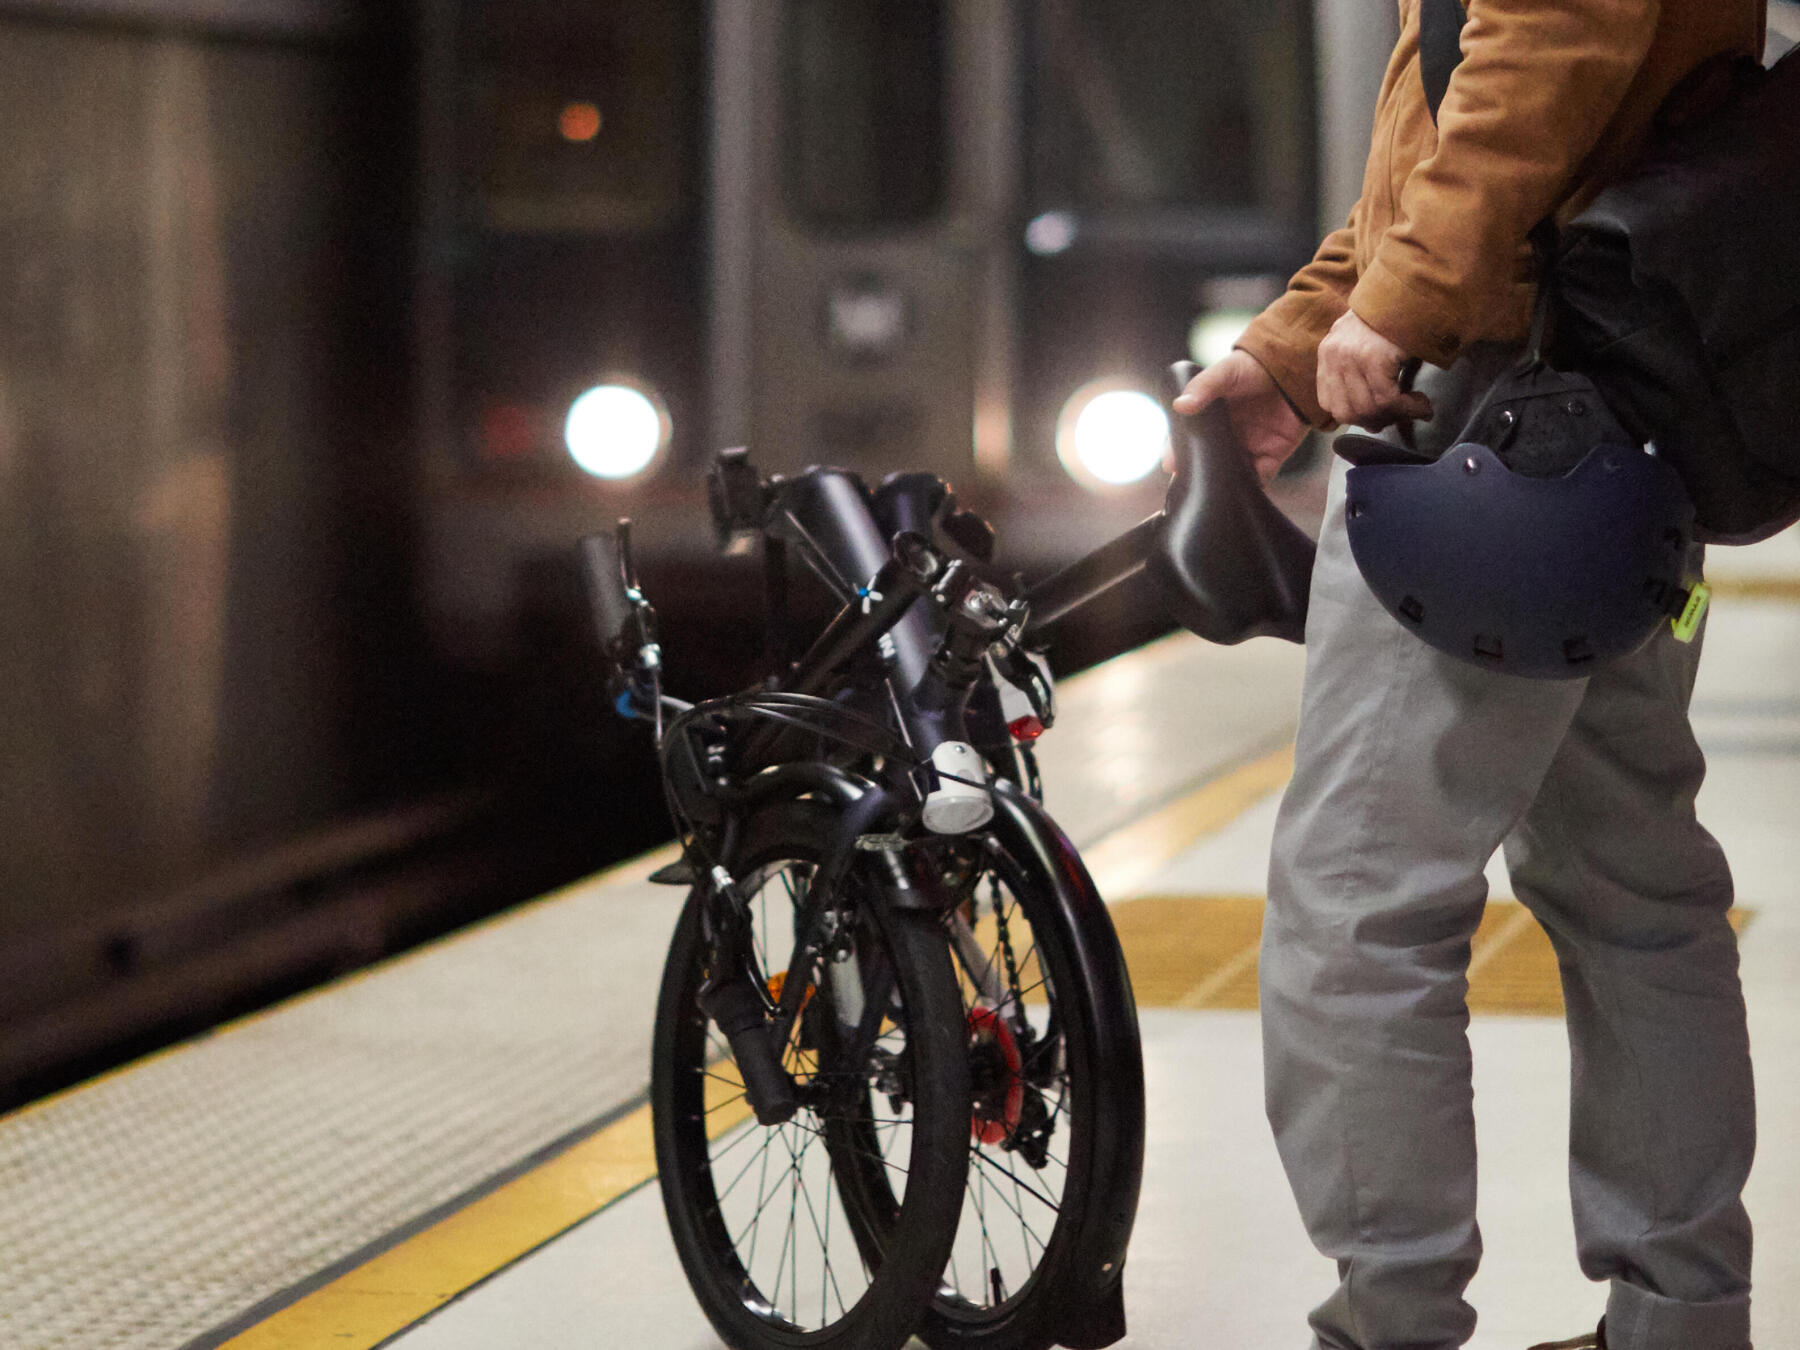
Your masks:
{"label": "blurred train front with two bright headlights approaching the platform", "polygon": [[1337,0],[427,11],[425,578],[475,664],[608,517],[702,553],[724,446],[938,473],[1021,565],[1152,509],[1163,371],[1348,209],[1393,40]]}

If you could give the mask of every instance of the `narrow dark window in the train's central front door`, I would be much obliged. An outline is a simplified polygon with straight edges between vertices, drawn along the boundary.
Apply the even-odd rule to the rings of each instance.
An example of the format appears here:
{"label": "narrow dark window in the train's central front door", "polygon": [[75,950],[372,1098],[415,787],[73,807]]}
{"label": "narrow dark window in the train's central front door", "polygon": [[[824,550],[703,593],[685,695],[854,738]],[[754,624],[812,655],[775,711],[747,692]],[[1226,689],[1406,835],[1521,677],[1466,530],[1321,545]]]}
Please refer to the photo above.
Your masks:
{"label": "narrow dark window in the train's central front door", "polygon": [[943,0],[788,0],[783,194],[823,232],[887,230],[943,205]]}

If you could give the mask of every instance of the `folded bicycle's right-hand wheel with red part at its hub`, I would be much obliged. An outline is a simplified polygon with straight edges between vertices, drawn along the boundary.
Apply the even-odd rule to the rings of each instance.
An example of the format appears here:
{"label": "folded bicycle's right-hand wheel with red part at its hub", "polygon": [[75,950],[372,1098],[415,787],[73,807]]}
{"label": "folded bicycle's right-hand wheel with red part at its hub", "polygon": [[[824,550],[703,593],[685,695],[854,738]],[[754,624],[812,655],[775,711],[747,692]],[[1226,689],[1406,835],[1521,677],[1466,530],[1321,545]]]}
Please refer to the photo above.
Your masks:
{"label": "folded bicycle's right-hand wheel with red part at its hub", "polygon": [[[1120,1276],[1143,1150],[1141,1051],[1118,940],[1085,873],[1078,932],[1058,891],[1067,878],[1017,839],[950,846],[947,873],[961,895],[947,925],[974,1109],[963,1213],[920,1336],[934,1350],[1107,1345],[1123,1334]],[[1102,988],[1107,979],[1118,988]]]}

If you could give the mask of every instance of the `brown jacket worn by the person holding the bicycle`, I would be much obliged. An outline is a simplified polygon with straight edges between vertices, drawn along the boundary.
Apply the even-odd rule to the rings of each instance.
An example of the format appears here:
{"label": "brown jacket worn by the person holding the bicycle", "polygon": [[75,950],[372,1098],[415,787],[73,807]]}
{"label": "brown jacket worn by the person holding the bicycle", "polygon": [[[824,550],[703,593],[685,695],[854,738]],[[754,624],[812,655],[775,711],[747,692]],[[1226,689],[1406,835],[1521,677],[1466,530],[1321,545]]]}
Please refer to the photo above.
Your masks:
{"label": "brown jacket worn by the person holding the bicycle", "polygon": [[1762,0],[1465,0],[1463,61],[1433,126],[1418,77],[1418,5],[1375,104],[1363,196],[1238,340],[1316,427],[1318,346],[1354,310],[1413,356],[1449,365],[1530,326],[1525,239],[1568,220],[1642,148],[1683,77],[1760,54]]}

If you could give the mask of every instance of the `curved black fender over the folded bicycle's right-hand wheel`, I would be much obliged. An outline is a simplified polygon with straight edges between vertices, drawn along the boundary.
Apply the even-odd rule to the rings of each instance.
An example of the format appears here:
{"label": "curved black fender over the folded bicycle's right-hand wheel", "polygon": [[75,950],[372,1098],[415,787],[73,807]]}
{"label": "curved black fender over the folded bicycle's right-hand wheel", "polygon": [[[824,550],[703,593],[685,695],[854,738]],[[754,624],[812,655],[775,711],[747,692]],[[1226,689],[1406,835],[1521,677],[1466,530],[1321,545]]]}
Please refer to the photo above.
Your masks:
{"label": "curved black fender over the folded bicycle's right-hand wheel", "polygon": [[1058,1345],[1098,1350],[1125,1334],[1121,1276],[1143,1184],[1143,1042],[1125,952],[1105,900],[1075,844],[1049,814],[1008,781],[994,785],[988,826],[1006,851],[1033,868],[1057,898],[1080,979],[1093,992],[1084,1037],[1094,1048],[1096,1112],[1112,1129],[1094,1136],[1089,1211],[1076,1237]]}

